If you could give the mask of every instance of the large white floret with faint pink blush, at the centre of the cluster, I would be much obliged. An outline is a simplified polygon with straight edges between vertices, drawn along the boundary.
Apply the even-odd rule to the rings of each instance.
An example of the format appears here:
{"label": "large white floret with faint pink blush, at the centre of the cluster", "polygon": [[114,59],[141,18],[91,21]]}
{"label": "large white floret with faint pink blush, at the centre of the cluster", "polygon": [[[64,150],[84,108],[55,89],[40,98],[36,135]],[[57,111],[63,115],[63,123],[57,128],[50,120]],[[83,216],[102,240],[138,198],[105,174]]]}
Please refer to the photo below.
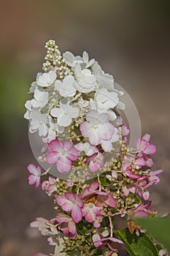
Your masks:
{"label": "large white floret with faint pink blush, at the centre of the cluster", "polygon": [[88,138],[90,143],[97,146],[101,140],[110,140],[114,132],[114,126],[108,121],[106,113],[98,114],[96,110],[91,110],[86,115],[86,121],[80,124],[82,136]]}

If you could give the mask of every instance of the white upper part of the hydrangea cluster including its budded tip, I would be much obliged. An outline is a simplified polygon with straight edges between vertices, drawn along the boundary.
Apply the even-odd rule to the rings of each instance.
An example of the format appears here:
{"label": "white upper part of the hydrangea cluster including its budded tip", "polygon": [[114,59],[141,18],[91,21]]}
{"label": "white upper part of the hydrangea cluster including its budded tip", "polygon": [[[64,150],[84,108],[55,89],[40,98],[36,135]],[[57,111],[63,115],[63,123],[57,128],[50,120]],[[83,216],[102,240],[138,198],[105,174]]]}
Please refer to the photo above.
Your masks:
{"label": "white upper part of the hydrangea cluster including its budded tip", "polygon": [[117,109],[125,105],[120,102],[123,92],[115,89],[112,75],[104,73],[85,51],[82,57],[69,51],[61,56],[53,40],[47,42],[46,48],[45,72],[39,72],[31,83],[33,98],[25,105],[29,132],[38,132],[44,142],[50,143],[68,130],[75,118],[90,110],[107,113],[109,121],[116,125]]}

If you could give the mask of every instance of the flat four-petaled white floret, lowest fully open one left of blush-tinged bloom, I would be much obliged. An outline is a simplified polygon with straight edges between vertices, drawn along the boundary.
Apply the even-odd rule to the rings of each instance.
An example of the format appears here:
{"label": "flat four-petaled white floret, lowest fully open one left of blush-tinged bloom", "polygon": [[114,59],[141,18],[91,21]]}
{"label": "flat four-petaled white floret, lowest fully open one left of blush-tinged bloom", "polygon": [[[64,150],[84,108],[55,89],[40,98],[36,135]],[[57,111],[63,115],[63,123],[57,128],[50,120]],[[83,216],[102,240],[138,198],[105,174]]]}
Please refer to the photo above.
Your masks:
{"label": "flat four-petaled white floret, lowest fully open one left of blush-tinged bloom", "polygon": [[72,118],[79,116],[80,109],[70,105],[67,99],[61,99],[60,108],[53,108],[50,111],[51,116],[57,117],[58,125],[61,127],[69,127]]}

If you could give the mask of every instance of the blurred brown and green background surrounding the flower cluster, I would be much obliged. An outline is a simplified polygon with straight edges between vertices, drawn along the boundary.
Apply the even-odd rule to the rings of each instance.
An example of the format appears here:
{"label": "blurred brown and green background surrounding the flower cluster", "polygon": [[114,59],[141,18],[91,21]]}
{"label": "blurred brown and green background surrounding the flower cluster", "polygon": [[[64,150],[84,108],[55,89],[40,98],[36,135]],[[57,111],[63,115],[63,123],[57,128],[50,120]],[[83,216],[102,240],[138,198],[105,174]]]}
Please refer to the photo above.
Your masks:
{"label": "blurred brown and green background surrounding the flower cluster", "polygon": [[36,164],[23,119],[27,91],[41,72],[45,42],[61,52],[87,50],[134,99],[142,133],[158,146],[154,170],[163,168],[151,198],[161,213],[170,210],[170,1],[0,0],[0,255],[53,252],[28,225],[53,217],[53,202],[28,185]]}

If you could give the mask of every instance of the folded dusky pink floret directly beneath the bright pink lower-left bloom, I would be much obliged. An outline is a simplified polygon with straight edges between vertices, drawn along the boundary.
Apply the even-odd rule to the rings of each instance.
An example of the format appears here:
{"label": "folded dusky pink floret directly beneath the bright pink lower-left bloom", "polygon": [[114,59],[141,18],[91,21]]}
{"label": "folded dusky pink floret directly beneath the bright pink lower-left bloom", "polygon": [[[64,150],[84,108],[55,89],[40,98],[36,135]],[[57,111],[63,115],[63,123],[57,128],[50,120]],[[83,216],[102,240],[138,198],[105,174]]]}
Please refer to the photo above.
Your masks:
{"label": "folded dusky pink floret directly beneath the bright pink lower-left bloom", "polygon": [[61,223],[60,229],[62,230],[63,234],[67,234],[71,239],[74,239],[76,237],[76,225],[72,217],[58,212],[56,220],[57,222]]}

